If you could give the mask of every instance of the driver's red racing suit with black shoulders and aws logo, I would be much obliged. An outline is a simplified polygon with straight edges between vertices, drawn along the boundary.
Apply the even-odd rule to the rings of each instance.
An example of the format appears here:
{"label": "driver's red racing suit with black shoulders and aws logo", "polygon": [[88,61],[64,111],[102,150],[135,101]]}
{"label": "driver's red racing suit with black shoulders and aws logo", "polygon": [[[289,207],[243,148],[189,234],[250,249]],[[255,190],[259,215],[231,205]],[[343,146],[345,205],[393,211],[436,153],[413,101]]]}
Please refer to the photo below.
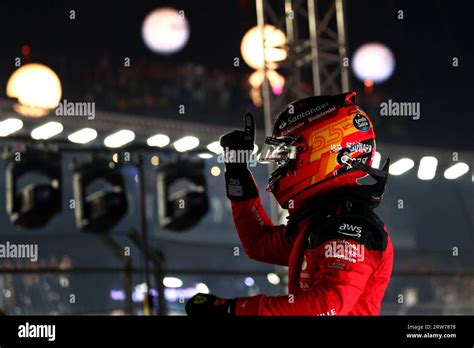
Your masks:
{"label": "driver's red racing suit with black shoulders and aws logo", "polygon": [[288,295],[238,298],[235,315],[380,314],[393,246],[372,209],[341,199],[331,211],[300,221],[298,231],[288,235],[287,226],[272,224],[259,197],[231,203],[247,255],[289,267]]}

